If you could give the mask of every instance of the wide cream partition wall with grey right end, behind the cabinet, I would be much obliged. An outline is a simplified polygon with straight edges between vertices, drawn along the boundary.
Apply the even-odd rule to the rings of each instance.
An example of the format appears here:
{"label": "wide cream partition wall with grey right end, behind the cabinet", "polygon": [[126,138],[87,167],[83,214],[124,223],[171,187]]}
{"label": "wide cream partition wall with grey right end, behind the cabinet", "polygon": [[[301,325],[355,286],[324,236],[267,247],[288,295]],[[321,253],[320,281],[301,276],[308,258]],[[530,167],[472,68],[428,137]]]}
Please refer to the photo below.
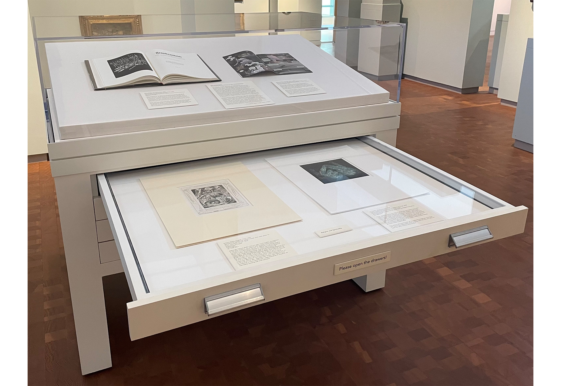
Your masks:
{"label": "wide cream partition wall with grey right end, behind the cabinet", "polygon": [[[403,0],[403,73],[469,89],[483,85],[493,0]],[[458,90],[456,90],[458,91]]]}

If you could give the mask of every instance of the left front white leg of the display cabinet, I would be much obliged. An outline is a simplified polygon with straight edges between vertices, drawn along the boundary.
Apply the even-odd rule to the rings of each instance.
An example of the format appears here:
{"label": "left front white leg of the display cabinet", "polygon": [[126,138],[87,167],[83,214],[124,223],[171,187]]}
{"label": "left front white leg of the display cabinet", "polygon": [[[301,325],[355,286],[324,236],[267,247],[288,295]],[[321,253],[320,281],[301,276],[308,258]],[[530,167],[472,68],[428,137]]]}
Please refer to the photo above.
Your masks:
{"label": "left front white leg of the display cabinet", "polygon": [[89,174],[54,178],[82,374],[111,367]]}

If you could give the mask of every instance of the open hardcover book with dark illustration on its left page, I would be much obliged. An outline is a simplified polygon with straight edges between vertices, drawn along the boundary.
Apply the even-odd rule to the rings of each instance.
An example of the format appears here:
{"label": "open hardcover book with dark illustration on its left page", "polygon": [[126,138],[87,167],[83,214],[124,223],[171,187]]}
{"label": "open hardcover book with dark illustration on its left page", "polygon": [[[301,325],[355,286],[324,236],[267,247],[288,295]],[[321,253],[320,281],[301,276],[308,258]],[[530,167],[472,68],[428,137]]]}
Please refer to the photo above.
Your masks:
{"label": "open hardcover book with dark illustration on its left page", "polygon": [[86,62],[94,90],[168,85],[170,83],[218,82],[220,78],[197,54],[133,50],[118,57]]}

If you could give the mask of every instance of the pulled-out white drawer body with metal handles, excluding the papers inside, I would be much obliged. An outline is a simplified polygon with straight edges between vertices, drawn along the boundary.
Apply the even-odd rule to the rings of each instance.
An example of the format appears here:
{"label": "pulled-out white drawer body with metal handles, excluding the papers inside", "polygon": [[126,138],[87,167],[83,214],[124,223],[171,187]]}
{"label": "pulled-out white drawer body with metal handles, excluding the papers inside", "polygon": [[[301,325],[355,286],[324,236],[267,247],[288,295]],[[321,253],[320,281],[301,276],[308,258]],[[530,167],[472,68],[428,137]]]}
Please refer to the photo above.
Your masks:
{"label": "pulled-out white drawer body with metal handles, excluding the papers inside", "polygon": [[[398,189],[399,197],[425,189],[427,193],[422,196],[398,202],[419,203],[439,221],[389,231],[367,216],[364,207],[331,215],[265,161],[284,154],[300,156],[316,149],[314,146],[323,146],[326,160],[330,147],[349,146],[353,151],[366,152],[367,161],[377,165],[367,174]],[[242,162],[302,217],[301,222],[273,228],[296,255],[236,271],[218,248],[217,240],[183,248],[174,246],[140,178],[231,162]],[[468,248],[519,234],[524,230],[527,215],[526,207],[513,207],[372,137],[99,174],[98,183],[134,299],[127,304],[132,340],[259,301],[280,299],[447,253],[456,248],[454,240],[457,245],[464,245],[459,248]],[[334,225],[350,226],[352,230],[322,238],[315,233]],[[450,238],[457,232],[484,226],[488,231]],[[470,244],[470,238],[474,243]],[[381,256],[386,257],[380,259]],[[352,262],[363,259],[375,263],[355,266],[356,262]],[[351,262],[348,266],[343,264],[351,269],[341,271],[344,262]],[[222,295],[216,296],[219,294]],[[236,307],[230,309],[229,305]]]}

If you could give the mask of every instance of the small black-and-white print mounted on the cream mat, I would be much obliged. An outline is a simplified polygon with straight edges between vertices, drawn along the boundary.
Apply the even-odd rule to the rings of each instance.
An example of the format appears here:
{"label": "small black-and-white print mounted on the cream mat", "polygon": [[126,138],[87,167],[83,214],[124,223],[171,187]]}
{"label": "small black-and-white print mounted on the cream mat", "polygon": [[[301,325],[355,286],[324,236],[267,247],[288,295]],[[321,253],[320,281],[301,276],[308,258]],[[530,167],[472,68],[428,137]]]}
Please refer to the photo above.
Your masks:
{"label": "small black-and-white print mounted on the cream mat", "polygon": [[199,215],[250,206],[230,180],[219,180],[180,188]]}

